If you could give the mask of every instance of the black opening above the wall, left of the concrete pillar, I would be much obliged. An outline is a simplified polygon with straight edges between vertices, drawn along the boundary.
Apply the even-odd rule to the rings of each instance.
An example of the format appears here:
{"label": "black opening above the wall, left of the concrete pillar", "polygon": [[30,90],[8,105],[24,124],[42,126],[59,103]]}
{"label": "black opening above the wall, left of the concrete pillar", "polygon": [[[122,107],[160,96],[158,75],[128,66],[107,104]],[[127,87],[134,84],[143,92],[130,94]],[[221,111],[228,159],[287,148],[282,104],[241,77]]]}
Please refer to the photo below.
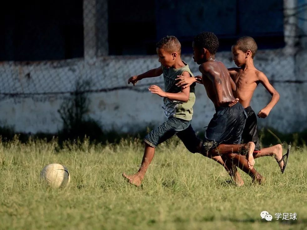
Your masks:
{"label": "black opening above the wall, left of the concrete pillar", "polygon": [[83,57],[82,0],[11,1],[0,9],[0,60]]}

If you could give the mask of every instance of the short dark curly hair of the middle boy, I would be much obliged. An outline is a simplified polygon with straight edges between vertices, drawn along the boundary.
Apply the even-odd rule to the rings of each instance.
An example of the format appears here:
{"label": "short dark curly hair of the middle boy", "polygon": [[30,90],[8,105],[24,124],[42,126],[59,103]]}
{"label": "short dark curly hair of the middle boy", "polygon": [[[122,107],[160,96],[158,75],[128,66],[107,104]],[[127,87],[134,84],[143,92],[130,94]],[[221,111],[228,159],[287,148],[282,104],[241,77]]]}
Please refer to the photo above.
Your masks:
{"label": "short dark curly hair of the middle boy", "polygon": [[219,39],[212,32],[202,32],[193,39],[196,47],[206,48],[210,54],[215,54],[219,48]]}

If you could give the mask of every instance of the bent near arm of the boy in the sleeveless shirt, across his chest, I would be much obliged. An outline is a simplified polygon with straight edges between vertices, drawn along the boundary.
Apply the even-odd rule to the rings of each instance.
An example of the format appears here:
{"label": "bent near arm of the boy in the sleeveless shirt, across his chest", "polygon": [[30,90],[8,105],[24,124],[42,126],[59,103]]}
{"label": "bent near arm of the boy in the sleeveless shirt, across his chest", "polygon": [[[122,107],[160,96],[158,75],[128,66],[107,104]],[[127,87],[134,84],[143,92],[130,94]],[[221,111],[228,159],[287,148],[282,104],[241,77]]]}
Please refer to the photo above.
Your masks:
{"label": "bent near arm of the boy in the sleeveless shirt, across his chest", "polygon": [[[187,77],[190,76],[188,72],[183,72],[183,76]],[[183,101],[187,102],[190,97],[190,87],[186,87],[183,89],[181,88],[181,92],[179,93],[167,93],[164,92],[159,86],[157,85],[151,85],[149,88],[149,91],[151,91],[153,94],[158,94],[160,97],[166,97],[171,100],[176,100],[176,101]]]}

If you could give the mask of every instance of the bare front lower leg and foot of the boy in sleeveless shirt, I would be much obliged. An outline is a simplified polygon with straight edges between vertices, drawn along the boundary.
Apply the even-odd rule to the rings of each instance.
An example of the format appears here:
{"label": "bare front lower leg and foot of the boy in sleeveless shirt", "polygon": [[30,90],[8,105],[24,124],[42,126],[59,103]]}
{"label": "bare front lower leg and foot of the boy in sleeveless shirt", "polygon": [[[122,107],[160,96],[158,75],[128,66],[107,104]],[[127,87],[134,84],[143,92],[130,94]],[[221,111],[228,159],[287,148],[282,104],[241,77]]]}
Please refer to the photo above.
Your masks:
{"label": "bare front lower leg and foot of the boy in sleeveless shirt", "polygon": [[145,143],[145,150],[143,155],[143,160],[140,166],[140,169],[137,173],[133,175],[126,175],[126,173],[122,173],[122,176],[127,178],[129,180],[130,184],[140,186],[142,183],[142,180],[144,178],[144,175],[148,169],[148,166],[150,165],[151,161],[153,160],[155,148]]}

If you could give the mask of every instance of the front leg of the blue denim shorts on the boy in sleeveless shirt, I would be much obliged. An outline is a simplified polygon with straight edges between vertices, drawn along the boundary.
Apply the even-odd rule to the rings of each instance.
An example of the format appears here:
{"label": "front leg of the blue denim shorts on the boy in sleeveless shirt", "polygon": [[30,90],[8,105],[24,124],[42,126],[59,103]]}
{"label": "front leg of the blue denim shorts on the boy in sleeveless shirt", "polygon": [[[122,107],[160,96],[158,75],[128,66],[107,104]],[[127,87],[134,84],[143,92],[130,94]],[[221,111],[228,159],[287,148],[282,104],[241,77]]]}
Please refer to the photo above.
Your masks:
{"label": "front leg of the blue denim shorts on the boy in sleeveless shirt", "polygon": [[[169,117],[167,121],[148,133],[145,136],[144,141],[148,145],[155,148],[157,145],[171,138],[173,135],[186,130],[190,124],[190,120],[182,120],[176,117]],[[188,142],[188,140],[185,142]]]}

